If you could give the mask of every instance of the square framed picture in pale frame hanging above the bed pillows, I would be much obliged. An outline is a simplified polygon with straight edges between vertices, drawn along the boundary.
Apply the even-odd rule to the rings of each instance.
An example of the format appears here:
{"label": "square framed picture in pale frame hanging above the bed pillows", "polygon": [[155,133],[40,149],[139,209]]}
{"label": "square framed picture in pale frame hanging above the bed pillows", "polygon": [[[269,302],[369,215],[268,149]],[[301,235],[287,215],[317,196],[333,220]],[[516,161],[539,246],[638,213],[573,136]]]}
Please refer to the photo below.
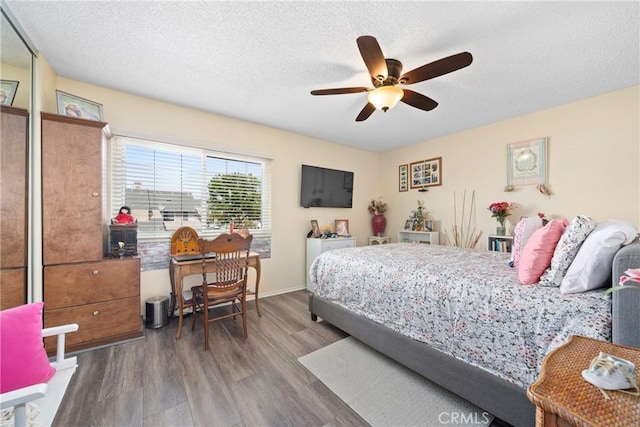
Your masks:
{"label": "square framed picture in pale frame hanging above the bed pillows", "polygon": [[545,184],[547,138],[515,142],[507,146],[507,184]]}

